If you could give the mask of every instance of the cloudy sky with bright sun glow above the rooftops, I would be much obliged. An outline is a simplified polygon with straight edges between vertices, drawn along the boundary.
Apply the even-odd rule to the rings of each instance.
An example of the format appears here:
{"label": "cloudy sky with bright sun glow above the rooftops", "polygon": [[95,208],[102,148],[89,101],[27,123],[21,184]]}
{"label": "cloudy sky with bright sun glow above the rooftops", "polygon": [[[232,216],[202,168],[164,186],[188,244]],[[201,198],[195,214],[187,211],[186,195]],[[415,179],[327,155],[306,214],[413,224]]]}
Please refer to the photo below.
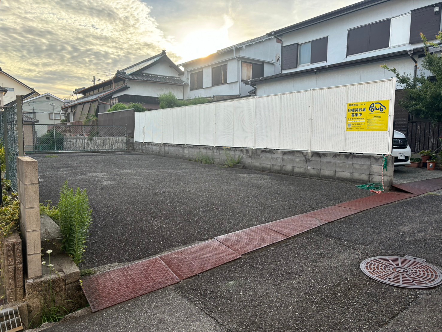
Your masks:
{"label": "cloudy sky with bright sun glow above the rooftops", "polygon": [[0,0],[0,67],[39,93],[69,97],[165,49],[175,62],[357,0]]}

